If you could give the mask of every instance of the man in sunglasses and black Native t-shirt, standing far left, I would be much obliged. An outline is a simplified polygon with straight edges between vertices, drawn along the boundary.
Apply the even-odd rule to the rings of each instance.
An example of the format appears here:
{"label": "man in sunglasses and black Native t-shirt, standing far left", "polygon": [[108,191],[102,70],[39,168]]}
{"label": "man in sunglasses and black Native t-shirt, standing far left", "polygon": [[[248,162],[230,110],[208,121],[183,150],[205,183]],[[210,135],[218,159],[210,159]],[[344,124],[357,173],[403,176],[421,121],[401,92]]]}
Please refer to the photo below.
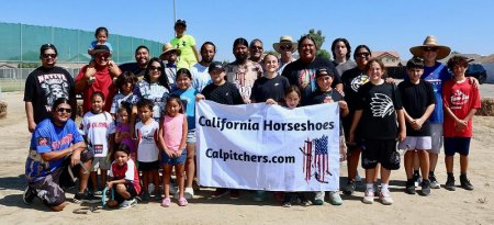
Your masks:
{"label": "man in sunglasses and black Native t-shirt, standing far left", "polygon": [[[75,82],[70,74],[55,66],[57,48],[44,44],[40,48],[42,66],[32,71],[25,80],[24,104],[27,117],[27,130],[32,133],[41,121],[50,116],[50,109],[58,98],[70,100],[70,106],[76,109]],[[71,115],[76,119],[76,113]]]}

